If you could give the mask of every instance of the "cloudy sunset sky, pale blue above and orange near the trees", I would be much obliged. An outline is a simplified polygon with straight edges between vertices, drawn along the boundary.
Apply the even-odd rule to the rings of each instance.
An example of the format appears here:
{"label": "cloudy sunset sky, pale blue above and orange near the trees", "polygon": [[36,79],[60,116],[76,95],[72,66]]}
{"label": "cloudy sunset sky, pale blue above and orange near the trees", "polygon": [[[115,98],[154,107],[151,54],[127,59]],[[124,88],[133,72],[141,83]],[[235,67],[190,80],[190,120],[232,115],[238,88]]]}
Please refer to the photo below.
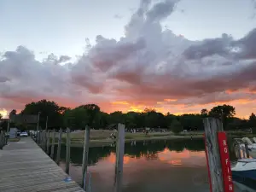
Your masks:
{"label": "cloudy sunset sky, pale blue above and orange near the trees", "polygon": [[0,111],[256,111],[253,0],[2,0]]}

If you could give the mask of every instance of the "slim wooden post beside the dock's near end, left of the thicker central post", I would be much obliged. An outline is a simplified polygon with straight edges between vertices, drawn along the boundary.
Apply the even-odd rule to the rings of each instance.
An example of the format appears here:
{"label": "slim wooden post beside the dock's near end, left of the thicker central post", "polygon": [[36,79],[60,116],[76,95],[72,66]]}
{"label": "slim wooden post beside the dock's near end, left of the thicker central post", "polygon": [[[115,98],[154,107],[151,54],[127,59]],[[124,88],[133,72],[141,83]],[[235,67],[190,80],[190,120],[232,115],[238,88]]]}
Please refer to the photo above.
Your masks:
{"label": "slim wooden post beside the dock's near end, left of the thicker central post", "polygon": [[83,176],[82,186],[84,187],[84,190],[86,190],[89,143],[90,143],[90,127],[86,125],[85,132],[84,132],[84,153],[83,153],[83,166],[82,166],[82,176]]}

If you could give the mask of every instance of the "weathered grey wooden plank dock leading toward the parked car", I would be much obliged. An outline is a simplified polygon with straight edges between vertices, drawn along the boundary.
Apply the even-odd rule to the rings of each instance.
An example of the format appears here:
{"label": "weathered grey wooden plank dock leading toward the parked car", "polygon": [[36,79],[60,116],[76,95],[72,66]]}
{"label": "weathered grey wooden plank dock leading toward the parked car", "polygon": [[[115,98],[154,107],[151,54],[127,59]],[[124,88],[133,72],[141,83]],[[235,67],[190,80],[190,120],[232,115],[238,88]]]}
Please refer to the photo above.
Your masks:
{"label": "weathered grey wooden plank dock leading toward the parked car", "polygon": [[84,192],[32,140],[21,138],[0,150],[1,192]]}

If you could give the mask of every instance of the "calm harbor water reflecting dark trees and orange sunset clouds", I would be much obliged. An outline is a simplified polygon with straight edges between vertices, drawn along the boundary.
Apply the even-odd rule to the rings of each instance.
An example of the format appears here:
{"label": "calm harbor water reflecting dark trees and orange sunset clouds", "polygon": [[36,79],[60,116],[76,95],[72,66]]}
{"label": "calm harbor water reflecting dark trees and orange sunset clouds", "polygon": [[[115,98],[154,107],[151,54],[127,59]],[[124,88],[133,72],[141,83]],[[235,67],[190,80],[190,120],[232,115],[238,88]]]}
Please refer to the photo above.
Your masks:
{"label": "calm harbor water reflecting dark trees and orange sunset clouds", "polygon": [[[125,143],[124,192],[208,192],[207,161],[202,140]],[[66,148],[60,166],[65,169]],[[71,148],[70,175],[82,180],[83,148]],[[230,151],[231,160],[236,160]],[[92,192],[113,192],[115,147],[89,151]],[[246,190],[236,189],[236,192]]]}

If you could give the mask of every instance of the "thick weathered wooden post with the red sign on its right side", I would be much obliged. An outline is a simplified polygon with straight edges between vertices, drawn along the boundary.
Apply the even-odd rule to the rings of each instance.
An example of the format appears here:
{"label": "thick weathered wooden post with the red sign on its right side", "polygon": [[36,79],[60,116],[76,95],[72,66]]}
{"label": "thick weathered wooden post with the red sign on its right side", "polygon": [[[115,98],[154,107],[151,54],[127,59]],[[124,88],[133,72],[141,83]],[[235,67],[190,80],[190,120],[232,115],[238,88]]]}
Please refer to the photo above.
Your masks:
{"label": "thick weathered wooden post with the red sign on its right side", "polygon": [[206,118],[203,123],[211,192],[224,192],[223,172],[218,148],[218,131],[223,131],[223,126],[219,119],[213,118]]}

